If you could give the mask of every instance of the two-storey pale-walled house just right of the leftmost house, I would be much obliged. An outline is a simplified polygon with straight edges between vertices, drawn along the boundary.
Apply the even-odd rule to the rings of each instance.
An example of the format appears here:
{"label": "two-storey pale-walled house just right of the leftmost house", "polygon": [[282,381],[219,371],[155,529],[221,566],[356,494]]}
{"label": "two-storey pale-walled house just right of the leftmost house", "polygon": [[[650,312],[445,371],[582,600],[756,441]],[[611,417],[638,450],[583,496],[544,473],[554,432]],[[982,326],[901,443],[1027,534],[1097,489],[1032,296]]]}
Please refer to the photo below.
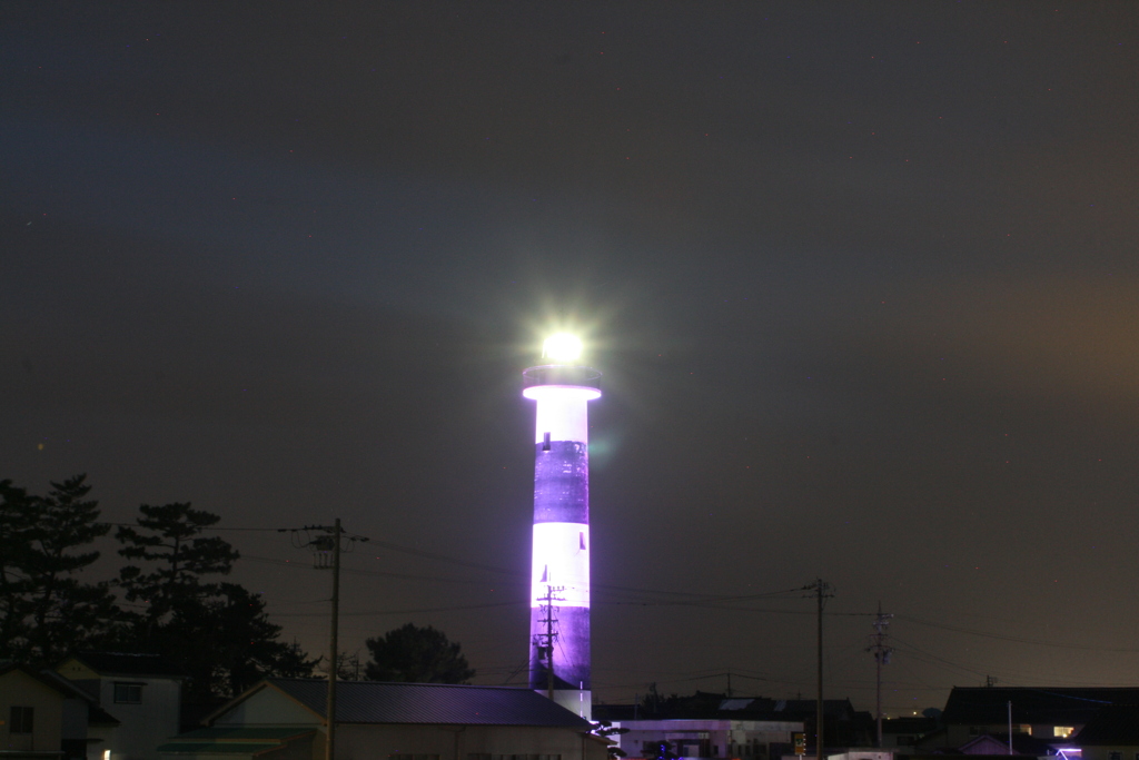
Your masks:
{"label": "two-storey pale-walled house just right of the leftmost house", "polygon": [[99,760],[157,760],[158,744],[180,728],[182,677],[159,655],[80,652],[56,672],[118,721],[92,727]]}

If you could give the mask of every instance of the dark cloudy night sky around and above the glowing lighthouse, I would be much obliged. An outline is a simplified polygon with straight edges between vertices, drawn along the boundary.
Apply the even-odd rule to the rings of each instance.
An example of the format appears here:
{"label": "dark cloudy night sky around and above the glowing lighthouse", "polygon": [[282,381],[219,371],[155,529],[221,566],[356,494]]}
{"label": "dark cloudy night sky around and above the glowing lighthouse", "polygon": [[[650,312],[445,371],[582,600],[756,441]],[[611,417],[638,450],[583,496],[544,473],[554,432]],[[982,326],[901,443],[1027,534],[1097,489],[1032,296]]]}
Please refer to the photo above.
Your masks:
{"label": "dark cloudy night sky around and above the glowing lighthouse", "polygon": [[7,2],[0,67],[0,477],[341,517],[345,649],[523,685],[568,328],[596,701],[813,697],[816,578],[858,709],[879,602],[890,714],[1136,684],[1139,5]]}

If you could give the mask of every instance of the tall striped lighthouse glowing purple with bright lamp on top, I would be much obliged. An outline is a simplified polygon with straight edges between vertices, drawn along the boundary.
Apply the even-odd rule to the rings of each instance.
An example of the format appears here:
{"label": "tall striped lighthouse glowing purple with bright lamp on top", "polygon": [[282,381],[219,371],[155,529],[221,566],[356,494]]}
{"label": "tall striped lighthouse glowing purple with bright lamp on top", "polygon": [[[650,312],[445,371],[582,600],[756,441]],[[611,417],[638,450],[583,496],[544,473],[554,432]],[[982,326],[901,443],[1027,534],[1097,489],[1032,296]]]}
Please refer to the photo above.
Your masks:
{"label": "tall striped lighthouse glowing purple with bright lamp on top", "polygon": [[530,687],[590,719],[589,416],[601,374],[576,363],[581,343],[546,341],[550,363],[523,373],[538,402],[534,545],[530,595]]}

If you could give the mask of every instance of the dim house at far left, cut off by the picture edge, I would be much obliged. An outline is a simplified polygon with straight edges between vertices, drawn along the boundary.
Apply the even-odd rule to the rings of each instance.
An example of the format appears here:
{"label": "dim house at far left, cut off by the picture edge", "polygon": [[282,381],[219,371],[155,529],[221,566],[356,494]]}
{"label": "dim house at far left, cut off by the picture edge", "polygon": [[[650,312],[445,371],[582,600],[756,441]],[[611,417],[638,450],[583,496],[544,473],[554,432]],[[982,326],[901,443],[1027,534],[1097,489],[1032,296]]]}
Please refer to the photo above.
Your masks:
{"label": "dim house at far left, cut off by the picture edge", "polygon": [[115,725],[93,698],[56,673],[0,663],[0,755],[83,760],[98,742],[92,728]]}

